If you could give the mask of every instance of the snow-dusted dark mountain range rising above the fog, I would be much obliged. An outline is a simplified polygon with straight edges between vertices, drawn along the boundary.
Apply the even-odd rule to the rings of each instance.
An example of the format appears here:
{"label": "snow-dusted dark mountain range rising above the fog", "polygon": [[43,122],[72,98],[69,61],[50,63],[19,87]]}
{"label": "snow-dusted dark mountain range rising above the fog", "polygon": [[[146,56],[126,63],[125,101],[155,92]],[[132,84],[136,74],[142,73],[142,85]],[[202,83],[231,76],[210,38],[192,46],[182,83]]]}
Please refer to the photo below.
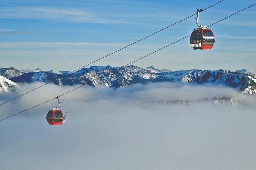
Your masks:
{"label": "snow-dusted dark mountain range rising above the fog", "polygon": [[[135,83],[148,82],[182,82],[194,84],[224,85],[243,91],[246,94],[256,94],[256,76],[245,69],[235,72],[223,70],[159,70],[154,67],[146,69],[130,65],[126,67],[91,66],[76,72],[11,68],[0,68],[0,75],[5,82],[11,83],[9,90],[21,83],[50,82],[57,85],[85,84],[91,86],[105,85],[110,88],[126,87]],[[1,77],[0,77],[1,78]],[[2,79],[3,79],[2,78]],[[9,80],[8,80],[9,79]],[[6,84],[2,82],[2,84]],[[7,87],[5,89],[7,90]],[[0,90],[2,90],[0,86]]]}

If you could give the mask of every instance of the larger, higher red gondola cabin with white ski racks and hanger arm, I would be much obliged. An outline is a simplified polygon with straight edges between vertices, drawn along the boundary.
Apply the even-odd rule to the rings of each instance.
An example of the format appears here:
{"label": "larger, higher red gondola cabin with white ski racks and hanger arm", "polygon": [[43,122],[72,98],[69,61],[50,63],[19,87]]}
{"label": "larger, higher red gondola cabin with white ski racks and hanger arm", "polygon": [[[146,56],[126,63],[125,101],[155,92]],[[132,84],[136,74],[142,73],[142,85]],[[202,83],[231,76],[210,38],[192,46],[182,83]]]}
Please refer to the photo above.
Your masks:
{"label": "larger, higher red gondola cabin with white ski racks and hanger arm", "polygon": [[199,28],[195,28],[190,36],[190,47],[194,50],[210,50],[213,48],[215,42],[213,31],[198,23],[199,13],[202,11],[202,9],[197,9],[196,11],[196,20]]}

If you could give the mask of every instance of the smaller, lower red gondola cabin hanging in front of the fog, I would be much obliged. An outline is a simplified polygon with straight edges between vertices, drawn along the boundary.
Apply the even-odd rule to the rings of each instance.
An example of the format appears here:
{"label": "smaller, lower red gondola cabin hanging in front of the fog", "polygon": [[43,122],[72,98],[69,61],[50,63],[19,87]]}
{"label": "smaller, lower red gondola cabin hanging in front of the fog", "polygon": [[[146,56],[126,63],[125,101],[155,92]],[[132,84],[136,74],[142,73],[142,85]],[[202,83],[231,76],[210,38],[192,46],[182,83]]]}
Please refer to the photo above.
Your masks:
{"label": "smaller, lower red gondola cabin hanging in front of the fog", "polygon": [[60,97],[56,97],[59,103],[58,107],[54,107],[52,110],[49,110],[47,113],[46,120],[49,123],[49,125],[61,125],[62,123],[65,122],[66,115],[64,116],[62,111],[59,109],[60,107],[59,98]]}

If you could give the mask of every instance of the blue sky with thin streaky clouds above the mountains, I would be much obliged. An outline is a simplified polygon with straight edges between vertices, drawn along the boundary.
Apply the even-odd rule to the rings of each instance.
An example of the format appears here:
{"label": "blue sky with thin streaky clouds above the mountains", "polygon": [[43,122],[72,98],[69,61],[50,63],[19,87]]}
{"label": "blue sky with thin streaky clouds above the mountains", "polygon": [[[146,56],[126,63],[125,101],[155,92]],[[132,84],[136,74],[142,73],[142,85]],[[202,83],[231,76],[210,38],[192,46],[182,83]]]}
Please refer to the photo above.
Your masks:
{"label": "blue sky with thin streaky clouds above the mountains", "polygon": [[[75,70],[218,1],[32,1],[0,3],[0,67]],[[224,0],[200,13],[210,25],[252,0]],[[193,50],[189,38],[134,65],[159,69],[247,69],[256,73],[256,6],[211,26],[212,50]],[[194,17],[93,65],[123,66],[181,39],[196,28]]]}

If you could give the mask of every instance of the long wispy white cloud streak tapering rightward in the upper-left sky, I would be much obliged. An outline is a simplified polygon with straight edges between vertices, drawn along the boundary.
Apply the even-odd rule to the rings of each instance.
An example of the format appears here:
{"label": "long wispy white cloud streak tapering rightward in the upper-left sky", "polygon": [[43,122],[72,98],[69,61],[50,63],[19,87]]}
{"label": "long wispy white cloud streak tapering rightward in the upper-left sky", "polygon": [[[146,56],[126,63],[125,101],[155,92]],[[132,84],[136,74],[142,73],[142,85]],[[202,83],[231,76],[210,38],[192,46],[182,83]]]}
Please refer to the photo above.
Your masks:
{"label": "long wispy white cloud streak tapering rightward in the upper-left sky", "polygon": [[109,19],[107,16],[80,8],[10,7],[1,9],[0,18],[40,19],[75,23],[134,24],[118,18]]}

